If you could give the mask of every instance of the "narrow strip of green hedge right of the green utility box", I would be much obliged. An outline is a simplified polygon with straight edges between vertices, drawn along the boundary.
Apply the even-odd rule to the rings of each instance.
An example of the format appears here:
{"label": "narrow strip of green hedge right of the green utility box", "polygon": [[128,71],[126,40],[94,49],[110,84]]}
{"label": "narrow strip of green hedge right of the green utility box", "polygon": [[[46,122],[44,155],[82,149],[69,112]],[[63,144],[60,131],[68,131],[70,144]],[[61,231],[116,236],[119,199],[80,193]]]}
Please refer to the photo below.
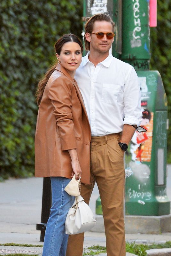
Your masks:
{"label": "narrow strip of green hedge right of the green utility box", "polygon": [[168,100],[168,144],[167,162],[171,163],[171,1],[158,0],[157,28],[151,28],[151,69],[158,70]]}

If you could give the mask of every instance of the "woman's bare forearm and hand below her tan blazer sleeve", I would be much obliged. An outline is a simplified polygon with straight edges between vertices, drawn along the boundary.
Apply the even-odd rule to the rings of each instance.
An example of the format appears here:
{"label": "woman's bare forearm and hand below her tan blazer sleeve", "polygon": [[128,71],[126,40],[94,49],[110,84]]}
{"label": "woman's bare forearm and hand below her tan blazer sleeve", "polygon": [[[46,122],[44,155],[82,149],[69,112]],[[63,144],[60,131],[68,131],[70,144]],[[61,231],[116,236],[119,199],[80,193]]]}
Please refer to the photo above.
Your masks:
{"label": "woman's bare forearm and hand below her tan blazer sleeve", "polygon": [[75,179],[78,180],[81,177],[82,170],[81,170],[81,167],[80,167],[80,163],[78,161],[78,156],[77,156],[76,149],[69,149],[68,152],[71,156],[71,165],[72,165],[72,168],[73,168],[71,178],[75,174]]}

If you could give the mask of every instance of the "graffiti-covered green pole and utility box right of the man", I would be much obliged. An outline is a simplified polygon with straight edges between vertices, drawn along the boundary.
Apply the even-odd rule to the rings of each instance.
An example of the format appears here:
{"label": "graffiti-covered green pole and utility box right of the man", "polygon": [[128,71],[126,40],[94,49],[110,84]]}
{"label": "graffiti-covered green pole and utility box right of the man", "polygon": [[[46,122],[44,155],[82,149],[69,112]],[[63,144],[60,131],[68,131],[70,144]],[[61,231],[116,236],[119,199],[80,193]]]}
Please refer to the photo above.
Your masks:
{"label": "graffiti-covered green pole and utility box right of the man", "polygon": [[141,88],[141,126],[125,154],[126,215],[167,215],[167,97],[158,71],[149,70],[149,1],[122,1],[121,59],[137,72]]}

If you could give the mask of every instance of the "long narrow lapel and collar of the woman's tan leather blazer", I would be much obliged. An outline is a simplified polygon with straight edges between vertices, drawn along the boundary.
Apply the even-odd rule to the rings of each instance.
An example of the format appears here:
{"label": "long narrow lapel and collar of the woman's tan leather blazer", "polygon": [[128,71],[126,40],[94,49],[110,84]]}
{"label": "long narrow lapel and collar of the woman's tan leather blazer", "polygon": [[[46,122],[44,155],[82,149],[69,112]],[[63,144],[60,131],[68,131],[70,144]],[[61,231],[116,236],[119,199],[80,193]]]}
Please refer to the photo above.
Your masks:
{"label": "long narrow lapel and collar of the woman's tan leather blazer", "polygon": [[65,69],[62,65],[60,65],[59,63],[58,63],[58,65],[56,66],[55,69],[58,70],[58,71],[60,71],[60,72],[62,72],[64,75],[66,75],[66,76],[69,78],[69,80],[71,81],[71,83],[74,84],[75,90],[76,90],[76,92],[77,92],[77,96],[78,96],[78,98],[79,98],[79,100],[80,100],[80,102],[81,102],[81,105],[82,105],[82,108],[83,108],[83,110],[84,110],[84,112],[85,112],[85,115],[86,115],[86,117],[87,117],[87,120],[89,121],[89,118],[88,118],[88,116],[87,116],[87,111],[86,111],[86,108],[85,108],[85,105],[84,105],[84,100],[83,100],[83,98],[82,98],[82,94],[81,94],[81,92],[80,92],[80,89],[79,89],[79,87],[78,87],[78,85],[77,85],[75,79],[73,80],[73,78],[72,78],[71,75],[68,73],[68,71],[66,71],[66,69]]}

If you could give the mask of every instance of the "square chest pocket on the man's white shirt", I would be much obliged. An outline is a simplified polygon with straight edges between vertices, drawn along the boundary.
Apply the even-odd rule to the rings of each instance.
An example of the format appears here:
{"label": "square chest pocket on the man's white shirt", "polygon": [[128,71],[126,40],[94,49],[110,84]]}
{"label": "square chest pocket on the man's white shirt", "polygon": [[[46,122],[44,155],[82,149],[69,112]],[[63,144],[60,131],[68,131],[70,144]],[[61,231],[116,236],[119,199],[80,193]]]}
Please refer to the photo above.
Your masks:
{"label": "square chest pocket on the man's white shirt", "polygon": [[120,91],[119,84],[103,84],[102,88],[102,102],[108,104],[116,104],[118,99],[118,94]]}

